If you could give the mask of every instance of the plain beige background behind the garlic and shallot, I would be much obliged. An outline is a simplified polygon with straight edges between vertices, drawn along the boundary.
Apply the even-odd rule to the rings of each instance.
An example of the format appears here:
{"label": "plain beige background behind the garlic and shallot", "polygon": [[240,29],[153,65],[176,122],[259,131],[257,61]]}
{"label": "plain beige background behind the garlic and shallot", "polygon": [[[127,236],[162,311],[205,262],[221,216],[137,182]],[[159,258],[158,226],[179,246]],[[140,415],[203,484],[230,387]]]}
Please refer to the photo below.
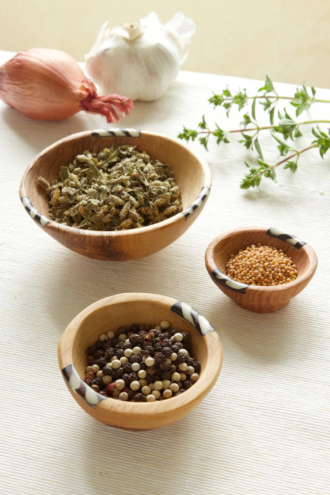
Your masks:
{"label": "plain beige background behind the garlic and shallot", "polygon": [[324,0],[0,0],[0,49],[43,46],[83,60],[100,25],[181,10],[197,25],[184,69],[330,87],[330,3]]}

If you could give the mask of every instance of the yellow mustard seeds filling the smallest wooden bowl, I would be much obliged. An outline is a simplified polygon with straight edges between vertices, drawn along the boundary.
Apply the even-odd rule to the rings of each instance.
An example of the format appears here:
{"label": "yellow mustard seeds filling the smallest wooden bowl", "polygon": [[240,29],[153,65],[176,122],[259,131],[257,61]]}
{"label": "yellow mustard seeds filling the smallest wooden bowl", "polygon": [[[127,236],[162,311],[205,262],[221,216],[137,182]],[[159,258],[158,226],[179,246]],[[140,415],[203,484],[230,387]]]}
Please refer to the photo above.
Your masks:
{"label": "yellow mustard seeds filling the smallest wooden bowl", "polygon": [[298,275],[296,265],[283,249],[262,246],[261,243],[231,254],[226,273],[237,282],[258,286],[288,284]]}

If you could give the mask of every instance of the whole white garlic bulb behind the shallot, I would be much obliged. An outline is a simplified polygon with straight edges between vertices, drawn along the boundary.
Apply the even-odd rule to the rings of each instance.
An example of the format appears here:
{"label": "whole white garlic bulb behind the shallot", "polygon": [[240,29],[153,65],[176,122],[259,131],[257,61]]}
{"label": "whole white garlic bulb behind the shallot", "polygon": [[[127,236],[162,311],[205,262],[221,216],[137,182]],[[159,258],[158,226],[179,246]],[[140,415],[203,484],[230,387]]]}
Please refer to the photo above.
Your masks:
{"label": "whole white garlic bulb behind the shallot", "polygon": [[87,72],[104,94],[160,98],[177,77],[194,31],[192,19],[181,12],[165,24],[155,12],[123,28],[109,29],[106,22],[85,56]]}

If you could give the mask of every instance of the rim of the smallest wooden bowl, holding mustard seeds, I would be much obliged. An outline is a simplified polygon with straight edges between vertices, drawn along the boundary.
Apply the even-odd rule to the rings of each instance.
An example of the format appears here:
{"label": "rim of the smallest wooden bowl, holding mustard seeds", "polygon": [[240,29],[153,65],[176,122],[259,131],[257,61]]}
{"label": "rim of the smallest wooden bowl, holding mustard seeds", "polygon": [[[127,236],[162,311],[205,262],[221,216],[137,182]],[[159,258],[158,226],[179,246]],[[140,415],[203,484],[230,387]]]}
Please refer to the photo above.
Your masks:
{"label": "rim of the smallest wooden bowl, holding mustard seeds", "polygon": [[[236,233],[245,233],[245,232],[250,233],[250,232],[254,232],[254,231],[255,232],[263,231],[264,233],[267,233],[268,231],[270,231],[272,229],[273,228],[269,228],[269,227],[268,228],[267,227],[266,228],[265,227],[242,227],[242,228],[236,228],[233,230],[226,231],[223,234],[216,236],[210,242],[210,244],[208,245],[208,247],[206,248],[206,251],[205,251],[205,265],[206,265],[206,269],[207,269],[210,277],[212,278],[212,280],[217,284],[217,281],[213,279],[211,274],[215,269],[218,269],[219,271],[221,271],[220,268],[216,265],[215,260],[214,260],[215,248],[217,247],[217,245],[221,241],[230,238],[233,234],[236,234]],[[274,230],[279,230],[279,229],[274,228]],[[276,236],[272,236],[272,237],[276,237]],[[295,238],[295,236],[288,236],[288,237]],[[285,243],[285,241],[283,241],[282,239],[279,239],[279,240]],[[288,243],[286,243],[286,244],[288,244]],[[241,286],[244,287],[246,290],[248,289],[248,292],[251,294],[252,291],[253,292],[286,291],[292,287],[298,287],[299,285],[306,282],[306,280],[308,280],[311,276],[313,276],[313,273],[315,272],[317,265],[318,265],[318,258],[317,258],[317,255],[316,255],[314,249],[309,244],[307,244],[305,242],[303,242],[302,244],[303,245],[299,248],[299,250],[306,253],[306,257],[309,260],[309,265],[307,266],[306,271],[300,277],[297,277],[295,280],[293,280],[289,284],[281,284],[281,285],[275,285],[275,286],[257,286],[257,285],[249,285],[249,284],[241,283]],[[293,247],[290,244],[288,244],[288,246]],[[227,277],[226,273],[224,273],[222,271],[221,271],[221,273]],[[221,286],[220,288],[222,289],[222,287],[226,288],[225,286]],[[231,288],[227,287],[227,289],[230,290]],[[243,293],[243,295],[246,295],[246,292]]]}

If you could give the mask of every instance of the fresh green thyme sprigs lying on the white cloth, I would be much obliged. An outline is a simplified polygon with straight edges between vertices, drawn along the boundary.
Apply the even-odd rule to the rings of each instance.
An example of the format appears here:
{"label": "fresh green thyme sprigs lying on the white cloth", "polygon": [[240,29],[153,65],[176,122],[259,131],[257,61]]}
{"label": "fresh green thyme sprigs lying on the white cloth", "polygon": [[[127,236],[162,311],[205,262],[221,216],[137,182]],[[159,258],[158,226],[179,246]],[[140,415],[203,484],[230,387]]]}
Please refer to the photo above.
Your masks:
{"label": "fresh green thyme sprigs lying on the white cloth", "polygon": [[[262,94],[259,95],[259,93]],[[232,95],[227,87],[221,94],[213,94],[213,96],[208,100],[214,107],[224,107],[226,109],[226,115],[229,117],[230,110],[233,105],[237,105],[238,111],[240,111],[248,104],[249,100],[252,99],[251,112],[245,112],[243,114],[243,120],[240,123],[241,127],[239,129],[224,130],[217,123],[215,123],[215,129],[210,129],[205,121],[205,116],[203,115],[202,120],[198,124],[197,130],[184,127],[183,132],[181,132],[178,137],[186,141],[194,141],[198,138],[200,144],[208,150],[207,146],[210,136],[214,136],[216,138],[217,145],[219,145],[220,143],[230,143],[230,134],[239,133],[241,139],[239,139],[238,142],[247,149],[255,149],[258,154],[257,163],[259,165],[259,167],[253,167],[245,162],[245,165],[249,168],[249,172],[244,175],[240,187],[242,189],[248,189],[250,187],[259,186],[263,176],[276,182],[275,169],[278,166],[284,164],[284,169],[288,169],[294,173],[297,170],[297,163],[301,153],[304,153],[311,148],[319,148],[320,155],[323,158],[324,154],[330,148],[330,129],[328,129],[328,134],[326,134],[318,126],[316,129],[314,127],[312,128],[312,133],[317,139],[314,140],[310,146],[298,150],[290,143],[290,141],[293,142],[296,138],[302,136],[302,132],[300,130],[301,126],[308,124],[330,123],[330,120],[304,120],[299,122],[294,120],[284,108],[283,113],[281,113],[281,111],[277,112],[277,122],[275,123],[275,108],[280,99],[290,100],[290,104],[295,107],[296,117],[298,117],[303,111],[308,110],[312,103],[330,103],[330,100],[316,99],[315,95],[315,88],[311,87],[309,93],[304,83],[302,87],[298,87],[296,89],[293,97],[280,96],[274,88],[270,75],[267,74],[264,86],[262,86],[258,90],[258,94],[253,97],[248,96],[245,89],[242,91],[238,90],[236,94]],[[270,125],[258,125],[256,119],[257,102],[263,106],[264,111],[268,111]],[[263,152],[258,140],[259,133],[265,130],[270,131],[271,136],[277,142],[277,148],[280,151],[280,156],[285,157],[272,165],[264,161]],[[288,153],[291,154],[288,155]]]}

